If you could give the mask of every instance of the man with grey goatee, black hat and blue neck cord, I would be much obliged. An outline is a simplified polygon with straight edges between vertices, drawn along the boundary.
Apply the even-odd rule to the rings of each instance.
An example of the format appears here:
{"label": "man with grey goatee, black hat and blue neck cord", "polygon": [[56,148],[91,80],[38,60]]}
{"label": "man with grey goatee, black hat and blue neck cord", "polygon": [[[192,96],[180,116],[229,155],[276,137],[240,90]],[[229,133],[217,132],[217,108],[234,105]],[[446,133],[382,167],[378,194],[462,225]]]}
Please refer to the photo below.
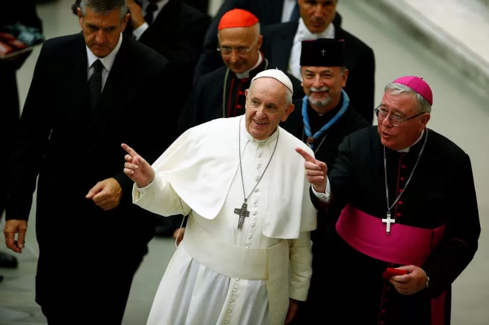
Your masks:
{"label": "man with grey goatee, black hat and blue neck cord", "polygon": [[[370,124],[352,107],[348,94],[343,90],[348,80],[345,68],[345,46],[343,41],[317,39],[302,41],[300,72],[306,97],[293,102],[295,110],[290,113],[282,127],[314,150],[316,159],[332,166],[338,156],[338,146],[348,134],[368,127]],[[323,56],[323,50],[324,56]],[[334,214],[330,211],[330,215]],[[337,211],[339,215],[339,211]],[[314,324],[324,310],[324,292],[318,284],[324,279],[324,263],[329,243],[334,236],[334,222],[325,213],[318,213],[318,227],[311,232],[313,241],[313,276],[308,299],[299,307],[293,324]]]}

